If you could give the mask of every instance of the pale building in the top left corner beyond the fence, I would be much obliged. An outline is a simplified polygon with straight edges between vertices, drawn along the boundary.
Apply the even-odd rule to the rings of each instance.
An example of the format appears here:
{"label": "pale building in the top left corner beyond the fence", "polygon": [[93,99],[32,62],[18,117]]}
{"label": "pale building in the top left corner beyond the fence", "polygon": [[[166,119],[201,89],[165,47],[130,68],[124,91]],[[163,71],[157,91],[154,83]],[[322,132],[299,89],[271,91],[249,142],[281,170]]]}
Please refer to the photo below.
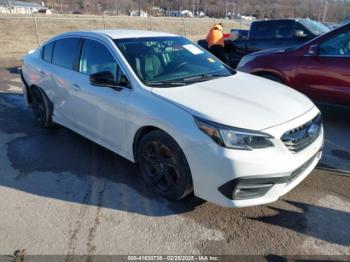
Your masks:
{"label": "pale building in the top left corner beyond the fence", "polygon": [[30,2],[0,0],[0,14],[33,14],[47,13],[51,11],[44,5]]}

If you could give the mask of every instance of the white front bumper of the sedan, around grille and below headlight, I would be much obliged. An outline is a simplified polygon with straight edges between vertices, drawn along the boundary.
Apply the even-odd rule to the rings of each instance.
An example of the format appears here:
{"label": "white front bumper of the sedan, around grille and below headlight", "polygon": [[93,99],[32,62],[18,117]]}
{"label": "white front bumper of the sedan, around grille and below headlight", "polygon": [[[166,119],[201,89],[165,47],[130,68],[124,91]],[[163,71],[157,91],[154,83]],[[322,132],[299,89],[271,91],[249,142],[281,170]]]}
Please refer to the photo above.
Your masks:
{"label": "white front bumper of the sedan, around grille and below headlight", "polygon": [[[264,130],[275,137],[274,147],[246,151],[210,143],[187,149],[185,154],[195,195],[225,207],[255,206],[278,200],[317,165],[322,156],[323,130],[312,144],[296,154],[288,150],[280,137],[286,130],[302,125],[318,113],[315,107],[286,124]],[[251,198],[233,196],[237,188],[247,184],[253,188],[262,186],[262,189]]]}

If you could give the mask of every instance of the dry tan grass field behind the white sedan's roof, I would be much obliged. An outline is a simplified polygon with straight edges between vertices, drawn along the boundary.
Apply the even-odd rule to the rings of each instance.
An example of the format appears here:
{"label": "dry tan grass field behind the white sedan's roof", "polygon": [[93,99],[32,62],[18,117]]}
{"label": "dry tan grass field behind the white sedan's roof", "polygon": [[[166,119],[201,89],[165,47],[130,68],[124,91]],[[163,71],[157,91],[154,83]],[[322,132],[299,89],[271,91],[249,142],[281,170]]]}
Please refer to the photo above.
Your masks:
{"label": "dry tan grass field behind the white sedan's roof", "polygon": [[[222,22],[226,31],[231,28],[244,28],[229,20],[214,20],[202,18],[165,18],[165,17],[112,17],[91,15],[52,15],[36,16],[39,42],[44,42],[50,37],[67,31],[93,30],[93,29],[144,29],[171,32],[186,35],[196,41],[204,38],[208,29],[214,22]],[[28,50],[36,48],[38,41],[34,19],[32,16],[1,16],[0,17],[0,58],[1,60],[17,60]]]}

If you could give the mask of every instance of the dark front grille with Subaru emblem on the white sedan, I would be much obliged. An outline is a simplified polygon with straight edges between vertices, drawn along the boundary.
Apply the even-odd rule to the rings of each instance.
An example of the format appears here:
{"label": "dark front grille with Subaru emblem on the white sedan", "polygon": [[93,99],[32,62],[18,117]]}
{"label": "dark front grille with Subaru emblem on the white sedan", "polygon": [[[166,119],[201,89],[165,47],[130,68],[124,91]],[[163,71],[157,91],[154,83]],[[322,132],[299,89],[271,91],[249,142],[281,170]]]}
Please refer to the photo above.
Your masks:
{"label": "dark front grille with Subaru emblem on the white sedan", "polygon": [[281,140],[292,153],[298,153],[318,138],[321,129],[322,118],[318,114],[309,122],[285,132]]}

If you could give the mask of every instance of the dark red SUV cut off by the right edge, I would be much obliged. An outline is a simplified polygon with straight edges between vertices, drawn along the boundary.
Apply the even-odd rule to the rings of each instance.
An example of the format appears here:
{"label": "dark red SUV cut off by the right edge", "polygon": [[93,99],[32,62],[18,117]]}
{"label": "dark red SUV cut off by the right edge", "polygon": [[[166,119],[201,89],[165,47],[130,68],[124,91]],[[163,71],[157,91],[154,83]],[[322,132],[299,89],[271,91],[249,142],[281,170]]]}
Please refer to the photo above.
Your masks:
{"label": "dark red SUV cut off by the right edge", "polygon": [[318,102],[350,106],[350,24],[297,48],[249,54],[237,69],[286,84]]}

